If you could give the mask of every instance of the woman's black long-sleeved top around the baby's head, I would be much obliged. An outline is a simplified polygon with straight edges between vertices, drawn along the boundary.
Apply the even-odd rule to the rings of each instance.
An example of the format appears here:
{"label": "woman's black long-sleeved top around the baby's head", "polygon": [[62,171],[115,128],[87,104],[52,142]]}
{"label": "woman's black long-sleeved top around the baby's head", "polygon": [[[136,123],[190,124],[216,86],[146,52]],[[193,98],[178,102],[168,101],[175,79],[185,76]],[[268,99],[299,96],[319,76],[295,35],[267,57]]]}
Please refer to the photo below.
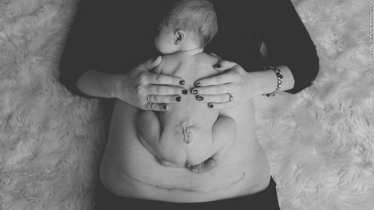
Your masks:
{"label": "woman's black long-sleeved top around the baby's head", "polygon": [[[319,69],[316,47],[289,0],[211,1],[219,31],[205,47],[245,71],[258,71],[264,64],[291,69],[297,93],[311,85]],[[60,60],[60,82],[81,93],[77,79],[88,69],[127,73],[159,52],[153,37],[169,1],[81,0]],[[261,42],[268,48],[262,58]]]}

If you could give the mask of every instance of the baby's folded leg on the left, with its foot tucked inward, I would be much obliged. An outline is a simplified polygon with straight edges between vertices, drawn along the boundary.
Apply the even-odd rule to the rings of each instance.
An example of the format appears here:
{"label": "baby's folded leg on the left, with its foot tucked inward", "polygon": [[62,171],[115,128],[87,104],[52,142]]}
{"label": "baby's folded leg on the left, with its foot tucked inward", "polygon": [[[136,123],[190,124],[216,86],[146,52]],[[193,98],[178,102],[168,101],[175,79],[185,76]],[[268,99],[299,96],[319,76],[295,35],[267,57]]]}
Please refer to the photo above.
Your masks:
{"label": "baby's folded leg on the left, with its foot tucked inward", "polygon": [[182,165],[176,165],[168,160],[161,157],[158,151],[158,142],[161,133],[161,124],[159,117],[153,111],[144,111],[139,115],[138,118],[139,127],[139,139],[142,145],[151,152],[161,165],[165,167],[184,167]]}

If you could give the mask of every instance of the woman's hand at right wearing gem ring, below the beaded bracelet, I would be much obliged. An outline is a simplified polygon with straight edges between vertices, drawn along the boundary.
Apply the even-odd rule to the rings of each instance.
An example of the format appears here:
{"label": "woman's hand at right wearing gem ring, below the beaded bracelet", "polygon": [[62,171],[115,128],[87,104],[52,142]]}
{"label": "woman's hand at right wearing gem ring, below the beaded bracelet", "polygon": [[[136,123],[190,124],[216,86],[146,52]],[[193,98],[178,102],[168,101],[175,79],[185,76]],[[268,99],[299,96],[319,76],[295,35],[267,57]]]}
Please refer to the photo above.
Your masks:
{"label": "woman's hand at right wearing gem ring, below the beaded bracelet", "polygon": [[[245,72],[237,63],[221,60],[213,67],[217,71],[228,72],[198,80],[193,89],[193,93],[194,90],[198,91],[195,94],[197,95],[197,100],[208,102],[210,109],[234,108],[241,102],[247,101],[256,95],[250,74]],[[230,100],[230,95],[232,100]]]}

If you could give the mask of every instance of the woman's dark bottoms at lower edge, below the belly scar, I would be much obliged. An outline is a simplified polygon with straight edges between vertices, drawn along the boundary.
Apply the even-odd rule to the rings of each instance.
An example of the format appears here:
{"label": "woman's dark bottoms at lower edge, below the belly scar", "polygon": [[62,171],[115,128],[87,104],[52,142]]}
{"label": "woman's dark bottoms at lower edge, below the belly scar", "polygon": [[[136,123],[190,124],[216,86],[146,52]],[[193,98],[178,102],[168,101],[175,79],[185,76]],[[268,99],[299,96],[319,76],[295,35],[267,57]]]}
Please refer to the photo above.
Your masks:
{"label": "woman's dark bottoms at lower edge, below the belly scar", "polygon": [[[100,182],[100,181],[99,181]],[[98,183],[96,210],[104,209],[279,209],[276,183],[270,178],[269,186],[256,194],[236,198],[199,203],[174,203],[136,198],[125,198],[112,194]]]}

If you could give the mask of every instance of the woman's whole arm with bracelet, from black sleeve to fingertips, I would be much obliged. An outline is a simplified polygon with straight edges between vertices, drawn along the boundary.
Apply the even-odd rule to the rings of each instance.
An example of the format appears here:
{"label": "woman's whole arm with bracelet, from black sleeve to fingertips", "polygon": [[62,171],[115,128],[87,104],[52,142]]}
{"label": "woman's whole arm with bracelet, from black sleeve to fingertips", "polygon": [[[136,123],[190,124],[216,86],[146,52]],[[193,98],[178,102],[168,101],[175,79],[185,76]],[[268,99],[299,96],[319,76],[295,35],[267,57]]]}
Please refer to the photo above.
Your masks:
{"label": "woman's whole arm with bracelet, from black sleeve to fingertips", "polygon": [[[257,3],[257,4],[256,4]],[[319,59],[316,47],[289,0],[254,2],[261,35],[267,46],[266,63],[281,69],[281,91],[297,93],[311,85],[318,73]],[[250,18],[250,17],[248,17]],[[251,59],[251,58],[248,58]],[[257,95],[271,93],[277,78],[271,69],[246,72],[240,63],[222,60],[214,66],[217,71],[228,71],[196,83],[211,109],[236,107],[242,101]],[[233,101],[229,101],[230,93]]]}

